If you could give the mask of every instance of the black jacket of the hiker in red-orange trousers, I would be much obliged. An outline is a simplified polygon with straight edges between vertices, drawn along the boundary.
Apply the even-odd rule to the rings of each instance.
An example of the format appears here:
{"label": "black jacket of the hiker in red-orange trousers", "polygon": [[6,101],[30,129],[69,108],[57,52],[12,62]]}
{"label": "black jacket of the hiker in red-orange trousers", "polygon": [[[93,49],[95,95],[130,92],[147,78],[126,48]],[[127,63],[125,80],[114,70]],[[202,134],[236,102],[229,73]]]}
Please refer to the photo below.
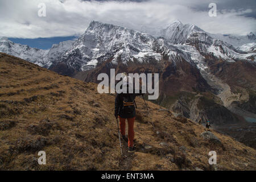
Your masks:
{"label": "black jacket of the hiker in red-orange trousers", "polygon": [[134,111],[131,114],[127,114],[123,111],[123,96],[129,96],[132,100],[135,100],[136,96],[142,96],[143,94],[140,93],[120,93],[115,95],[115,115],[119,115],[121,118],[134,118],[136,115],[135,107]]}

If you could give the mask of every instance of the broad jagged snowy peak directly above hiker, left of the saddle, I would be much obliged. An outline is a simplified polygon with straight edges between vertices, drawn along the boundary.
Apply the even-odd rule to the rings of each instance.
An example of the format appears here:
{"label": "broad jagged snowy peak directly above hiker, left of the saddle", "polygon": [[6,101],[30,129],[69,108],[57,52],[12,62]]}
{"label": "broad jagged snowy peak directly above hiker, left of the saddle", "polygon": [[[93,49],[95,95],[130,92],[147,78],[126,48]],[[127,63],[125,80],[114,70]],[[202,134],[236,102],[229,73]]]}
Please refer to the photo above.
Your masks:
{"label": "broad jagged snowy peak directly above hiker, left of the saddle", "polygon": [[93,21],[85,34],[55,64],[64,62],[85,71],[110,57],[113,57],[113,63],[118,59],[123,62],[133,59],[146,61],[146,57],[160,60],[160,53],[152,49],[154,41],[153,36],[129,28]]}

